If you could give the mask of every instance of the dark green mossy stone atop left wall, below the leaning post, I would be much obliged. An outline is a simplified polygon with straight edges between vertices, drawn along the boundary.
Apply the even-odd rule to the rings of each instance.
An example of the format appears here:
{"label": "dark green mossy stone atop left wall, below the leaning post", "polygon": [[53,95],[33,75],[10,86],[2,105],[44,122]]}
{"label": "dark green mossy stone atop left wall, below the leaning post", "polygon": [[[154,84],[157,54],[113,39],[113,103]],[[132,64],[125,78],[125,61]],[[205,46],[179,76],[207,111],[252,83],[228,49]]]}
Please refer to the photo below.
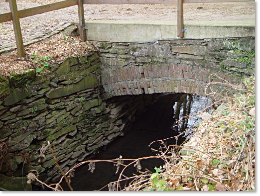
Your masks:
{"label": "dark green mossy stone atop left wall, below the leaning post", "polygon": [[30,69],[22,74],[11,74],[9,76],[9,84],[12,89],[25,88],[36,78],[36,71]]}

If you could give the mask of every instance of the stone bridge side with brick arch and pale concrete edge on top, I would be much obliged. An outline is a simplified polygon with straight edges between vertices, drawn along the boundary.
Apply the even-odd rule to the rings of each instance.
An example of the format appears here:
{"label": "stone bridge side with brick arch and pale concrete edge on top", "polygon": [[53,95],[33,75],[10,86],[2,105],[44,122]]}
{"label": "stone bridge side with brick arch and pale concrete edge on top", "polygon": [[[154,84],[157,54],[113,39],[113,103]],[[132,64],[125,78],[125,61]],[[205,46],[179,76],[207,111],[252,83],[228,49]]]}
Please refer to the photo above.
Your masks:
{"label": "stone bridge side with brick arch and pale concrete edge on top", "polygon": [[[174,23],[92,22],[99,48],[105,97],[153,93],[207,96],[217,76],[237,84],[255,72],[254,24],[186,24],[184,39]],[[156,41],[155,41],[156,40]],[[215,75],[213,75],[215,74]],[[214,85],[223,91],[223,85]]]}

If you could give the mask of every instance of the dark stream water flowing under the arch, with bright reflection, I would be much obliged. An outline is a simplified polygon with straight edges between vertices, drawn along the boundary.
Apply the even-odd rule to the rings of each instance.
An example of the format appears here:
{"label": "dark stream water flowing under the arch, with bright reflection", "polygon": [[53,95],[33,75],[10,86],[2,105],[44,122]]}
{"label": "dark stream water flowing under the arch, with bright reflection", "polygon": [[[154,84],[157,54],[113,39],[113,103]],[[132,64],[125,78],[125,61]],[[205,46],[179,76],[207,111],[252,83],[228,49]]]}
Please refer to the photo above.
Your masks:
{"label": "dark stream water flowing under the arch, with bright reflection", "polygon": [[[125,136],[116,138],[115,141],[107,146],[105,151],[100,152],[93,159],[116,159],[119,156],[137,159],[139,157],[156,155],[156,152],[153,152],[151,148],[157,150],[162,145],[159,142],[155,142],[149,147],[149,144],[155,140],[178,135],[181,127],[186,128],[192,126],[194,121],[192,121],[192,124],[188,124],[188,119],[184,126],[181,126],[180,124],[176,125],[176,119],[174,119],[174,117],[177,116],[178,118],[181,118],[182,115],[191,113],[194,111],[191,107],[198,107],[198,105],[201,105],[200,108],[203,108],[205,101],[199,103],[200,100],[199,97],[183,94],[161,96],[135,120],[130,131],[127,132]],[[191,103],[194,104],[192,105]],[[208,99],[206,103],[208,103]],[[176,111],[178,114],[176,114]],[[177,143],[173,138],[166,140],[167,145],[180,144],[183,141],[184,138],[180,138]],[[126,163],[127,162],[124,162],[124,164]],[[140,164],[142,167],[141,171],[147,169],[154,172],[153,168],[155,166],[162,166],[163,161],[161,159],[149,159],[142,160]],[[122,171],[122,168],[123,167],[121,167],[120,172]],[[71,186],[74,191],[100,190],[110,182],[117,181],[119,178],[119,174],[115,174],[117,167],[113,166],[113,163],[95,163],[94,173],[91,173],[88,169],[89,166],[86,164],[75,171],[75,177],[71,180]],[[133,174],[138,174],[134,167],[129,167],[124,172],[124,175],[127,177],[131,177]],[[124,186],[125,183],[122,182],[121,187],[124,188]],[[62,187],[64,190],[69,190],[65,183],[62,184]],[[102,191],[108,191],[108,187],[105,187]]]}

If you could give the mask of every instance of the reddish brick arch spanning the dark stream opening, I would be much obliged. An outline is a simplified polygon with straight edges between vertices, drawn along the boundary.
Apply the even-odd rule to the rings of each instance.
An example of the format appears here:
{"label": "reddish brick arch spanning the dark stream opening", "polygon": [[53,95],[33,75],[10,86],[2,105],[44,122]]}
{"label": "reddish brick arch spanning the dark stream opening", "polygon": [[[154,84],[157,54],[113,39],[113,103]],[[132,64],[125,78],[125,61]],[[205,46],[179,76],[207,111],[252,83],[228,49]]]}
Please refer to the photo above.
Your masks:
{"label": "reddish brick arch spanning the dark stream opening", "polygon": [[[205,88],[212,80],[210,75],[215,73],[199,65],[173,63],[118,67],[102,72],[106,98],[166,92],[207,97]],[[228,74],[220,72],[219,75],[232,81]]]}

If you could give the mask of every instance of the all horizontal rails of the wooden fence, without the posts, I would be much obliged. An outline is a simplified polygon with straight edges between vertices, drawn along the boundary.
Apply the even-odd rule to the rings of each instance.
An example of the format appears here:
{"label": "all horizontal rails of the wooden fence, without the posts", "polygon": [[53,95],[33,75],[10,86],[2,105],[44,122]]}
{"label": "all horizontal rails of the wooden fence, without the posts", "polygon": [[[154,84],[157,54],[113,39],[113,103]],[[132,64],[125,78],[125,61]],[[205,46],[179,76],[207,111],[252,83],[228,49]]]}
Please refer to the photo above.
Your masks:
{"label": "all horizontal rails of the wooden fence, without the posts", "polygon": [[[183,3],[209,3],[209,2],[241,2],[255,0],[183,0]],[[177,0],[83,0],[83,4],[160,4],[160,3],[177,3]],[[48,11],[53,11],[65,7],[77,5],[78,0],[63,0],[60,2],[50,3],[28,9],[18,10],[19,18],[24,18]],[[0,22],[12,20],[11,12],[0,14]]]}

